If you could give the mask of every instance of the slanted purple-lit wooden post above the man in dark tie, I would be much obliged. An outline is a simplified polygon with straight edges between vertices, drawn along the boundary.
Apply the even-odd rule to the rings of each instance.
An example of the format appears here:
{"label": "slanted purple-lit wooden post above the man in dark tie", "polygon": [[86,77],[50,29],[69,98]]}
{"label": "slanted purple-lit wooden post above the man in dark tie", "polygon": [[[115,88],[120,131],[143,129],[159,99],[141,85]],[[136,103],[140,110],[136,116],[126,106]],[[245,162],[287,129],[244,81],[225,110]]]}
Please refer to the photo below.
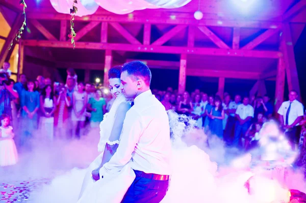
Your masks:
{"label": "slanted purple-lit wooden post above the man in dark tie", "polygon": [[295,90],[298,95],[300,95],[300,87],[298,82],[293,42],[289,23],[284,23],[283,35],[284,36],[282,36],[281,39],[281,50],[284,54],[284,62],[286,67],[289,91]]}

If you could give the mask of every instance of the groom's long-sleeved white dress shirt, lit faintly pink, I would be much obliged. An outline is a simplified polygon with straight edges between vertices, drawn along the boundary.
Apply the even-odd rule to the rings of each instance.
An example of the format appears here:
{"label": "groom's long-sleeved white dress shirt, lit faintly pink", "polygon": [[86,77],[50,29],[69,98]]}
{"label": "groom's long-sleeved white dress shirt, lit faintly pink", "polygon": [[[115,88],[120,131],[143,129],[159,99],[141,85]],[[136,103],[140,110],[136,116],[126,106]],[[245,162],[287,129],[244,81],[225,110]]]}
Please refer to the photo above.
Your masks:
{"label": "groom's long-sleeved white dress shirt, lit faintly pink", "polygon": [[171,175],[169,119],[165,107],[151,91],[138,95],[127,111],[119,146],[100,176],[118,172],[128,162],[134,170]]}

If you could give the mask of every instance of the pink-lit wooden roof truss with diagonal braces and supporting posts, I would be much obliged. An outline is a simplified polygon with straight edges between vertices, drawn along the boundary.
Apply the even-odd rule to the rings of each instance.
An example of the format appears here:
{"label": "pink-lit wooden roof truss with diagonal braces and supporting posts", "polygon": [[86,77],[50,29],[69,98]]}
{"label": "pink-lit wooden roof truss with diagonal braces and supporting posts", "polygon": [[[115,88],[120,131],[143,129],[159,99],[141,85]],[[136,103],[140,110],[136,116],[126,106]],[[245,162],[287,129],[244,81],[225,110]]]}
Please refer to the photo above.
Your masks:
{"label": "pink-lit wooden roof truss with diagonal braces and supporting posts", "polygon": [[[10,4],[10,3],[7,3]],[[180,54],[181,60],[176,68],[180,73],[179,91],[185,91],[186,76],[211,76],[219,77],[219,94],[224,91],[225,78],[244,78],[257,79],[256,86],[263,86],[262,81],[276,76],[276,98],[277,102],[283,100],[284,95],[284,80],[285,73],[290,89],[296,89],[299,92],[296,65],[294,61],[292,37],[290,34],[290,25],[287,23],[292,17],[306,7],[306,0],[299,1],[295,6],[288,10],[282,17],[281,21],[257,21],[257,20],[234,20],[234,19],[214,19],[204,17],[202,20],[195,20],[187,14],[177,14],[172,18],[170,12],[165,12],[163,17],[143,16],[143,15],[91,15],[84,17],[75,17],[75,21],[89,22],[79,32],[76,41],[76,48],[81,49],[101,49],[106,50],[106,63],[104,64],[105,73],[108,72],[112,63],[112,50],[114,51],[132,51],[132,52],[156,52],[156,53],[172,53]],[[24,46],[41,46],[41,47],[63,47],[72,48],[69,39],[67,39],[67,22],[70,20],[69,15],[59,13],[29,13],[28,19],[46,40],[23,40]],[[47,31],[39,20],[59,20],[61,22],[60,37],[57,39],[54,35]],[[120,23],[137,23],[143,24],[143,41],[140,42],[135,36],[127,31]],[[86,36],[94,27],[101,24],[100,42],[84,42],[80,39]],[[151,40],[151,25],[154,24],[169,24],[174,27],[161,36],[159,39],[152,42]],[[112,26],[129,44],[108,43],[108,27]],[[233,28],[232,44],[225,43],[210,26],[222,26]],[[253,39],[243,47],[240,46],[240,31],[244,27],[265,29],[261,35]],[[217,48],[211,47],[195,47],[195,30],[199,29],[207,36]],[[13,29],[12,29],[13,30]],[[188,33],[187,46],[165,46],[164,44],[171,40],[174,36],[179,35],[182,31]],[[272,35],[282,34],[281,45],[279,50],[256,50],[256,47],[267,40]],[[10,37],[10,36],[9,36]],[[9,38],[8,37],[8,38]],[[22,51],[23,52],[23,51]],[[2,56],[3,53],[1,52]],[[218,56],[239,56],[239,57],[258,57],[270,58],[278,60],[277,71],[268,73],[253,73],[253,72],[237,72],[237,71],[217,71],[217,70],[198,70],[189,69],[187,65],[187,56],[189,54],[199,55],[218,55]],[[3,57],[1,57],[1,60]],[[167,63],[167,62],[164,62]],[[177,62],[176,62],[177,63]],[[22,63],[21,63],[22,64]],[[0,63],[1,65],[1,63]],[[107,75],[107,74],[105,74]],[[106,84],[105,78],[105,84]],[[279,92],[282,90],[281,92]],[[258,90],[259,91],[259,90]],[[253,91],[254,92],[254,91]],[[260,91],[264,93],[264,91]],[[277,103],[276,102],[276,103]]]}

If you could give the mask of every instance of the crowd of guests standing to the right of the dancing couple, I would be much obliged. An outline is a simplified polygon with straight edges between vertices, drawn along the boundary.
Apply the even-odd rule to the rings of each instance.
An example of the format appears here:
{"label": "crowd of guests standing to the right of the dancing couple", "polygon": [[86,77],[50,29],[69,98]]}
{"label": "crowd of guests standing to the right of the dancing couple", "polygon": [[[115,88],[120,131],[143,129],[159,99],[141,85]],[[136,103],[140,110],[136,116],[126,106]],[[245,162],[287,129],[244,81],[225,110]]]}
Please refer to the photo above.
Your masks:
{"label": "crowd of guests standing to the right of the dancing couple", "polygon": [[[168,88],[167,91],[154,90],[153,93],[166,110],[191,116],[196,126],[208,136],[216,135],[227,146],[250,150],[258,146],[260,130],[268,120],[276,120],[287,136],[292,150],[305,146],[305,121],[303,105],[297,100],[298,93],[289,92],[289,101],[283,102],[274,114],[274,106],[268,95],[249,97],[230,94],[207,95],[195,90],[183,94]],[[223,99],[221,99],[221,97]]]}

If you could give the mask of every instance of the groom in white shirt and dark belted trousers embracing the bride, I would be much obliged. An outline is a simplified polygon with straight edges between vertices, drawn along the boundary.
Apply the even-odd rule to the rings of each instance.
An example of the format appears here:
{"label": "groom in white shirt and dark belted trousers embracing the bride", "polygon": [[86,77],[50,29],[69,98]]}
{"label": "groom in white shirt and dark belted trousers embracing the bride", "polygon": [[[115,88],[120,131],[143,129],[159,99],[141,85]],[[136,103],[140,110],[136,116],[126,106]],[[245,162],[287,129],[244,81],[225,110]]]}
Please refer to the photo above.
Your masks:
{"label": "groom in white shirt and dark belted trousers embracing the bride", "polygon": [[120,79],[122,93],[134,105],[126,113],[116,153],[99,174],[106,177],[131,162],[136,179],[121,202],[157,203],[166,195],[171,173],[168,115],[150,91],[151,72],[145,64],[124,64]]}

